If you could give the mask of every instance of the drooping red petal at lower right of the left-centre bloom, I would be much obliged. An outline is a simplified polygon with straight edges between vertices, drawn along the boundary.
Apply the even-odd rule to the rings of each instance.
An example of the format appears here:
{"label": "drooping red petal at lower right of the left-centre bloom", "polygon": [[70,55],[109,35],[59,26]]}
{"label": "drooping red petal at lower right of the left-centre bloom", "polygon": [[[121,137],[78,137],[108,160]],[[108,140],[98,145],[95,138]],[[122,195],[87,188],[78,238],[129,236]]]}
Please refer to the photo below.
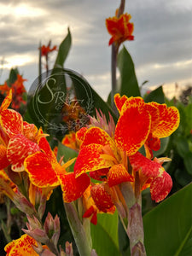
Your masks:
{"label": "drooping red petal at lower right of the left-centre bloom", "polygon": [[63,200],[65,202],[77,200],[90,185],[90,177],[85,173],[79,177],[75,177],[73,172],[67,174],[59,172],[57,173],[57,177],[61,183]]}

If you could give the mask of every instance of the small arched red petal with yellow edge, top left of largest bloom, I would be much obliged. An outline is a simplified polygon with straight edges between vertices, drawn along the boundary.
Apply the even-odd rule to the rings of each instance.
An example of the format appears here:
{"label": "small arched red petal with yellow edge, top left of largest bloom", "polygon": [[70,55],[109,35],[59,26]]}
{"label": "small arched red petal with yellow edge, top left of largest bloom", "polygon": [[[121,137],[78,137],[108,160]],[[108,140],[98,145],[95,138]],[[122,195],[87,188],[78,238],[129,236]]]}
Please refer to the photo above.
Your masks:
{"label": "small arched red petal with yellow edge, top left of largest bloom", "polygon": [[81,148],[91,143],[96,143],[104,146],[112,143],[112,138],[108,135],[106,131],[103,131],[101,128],[91,127],[84,134],[84,141],[81,144]]}

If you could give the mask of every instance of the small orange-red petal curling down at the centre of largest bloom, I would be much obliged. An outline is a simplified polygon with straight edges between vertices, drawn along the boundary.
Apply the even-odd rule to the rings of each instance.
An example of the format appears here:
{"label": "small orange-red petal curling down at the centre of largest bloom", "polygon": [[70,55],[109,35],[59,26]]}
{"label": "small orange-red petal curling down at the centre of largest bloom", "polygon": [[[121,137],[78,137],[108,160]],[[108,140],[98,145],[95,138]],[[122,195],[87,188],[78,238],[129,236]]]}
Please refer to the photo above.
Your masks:
{"label": "small orange-red petal curling down at the centre of largest bloom", "polygon": [[129,172],[125,169],[125,166],[119,164],[114,165],[110,168],[108,172],[108,186],[112,187],[119,185],[120,183],[133,182],[134,177],[132,177]]}

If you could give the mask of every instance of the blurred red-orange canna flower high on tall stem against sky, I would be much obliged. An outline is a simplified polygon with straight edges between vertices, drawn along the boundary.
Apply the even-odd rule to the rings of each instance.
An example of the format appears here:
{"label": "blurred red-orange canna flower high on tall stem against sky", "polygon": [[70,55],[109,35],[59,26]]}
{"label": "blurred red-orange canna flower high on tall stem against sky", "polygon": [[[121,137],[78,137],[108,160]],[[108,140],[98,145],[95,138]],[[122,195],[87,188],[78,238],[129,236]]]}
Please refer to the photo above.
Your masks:
{"label": "blurred red-orange canna flower high on tall stem against sky", "polygon": [[115,43],[119,46],[125,40],[134,39],[134,36],[132,35],[134,25],[130,22],[130,20],[131,15],[128,14],[122,14],[119,16],[119,18],[114,16],[113,18],[106,19],[108,32],[112,36],[108,42],[108,45]]}

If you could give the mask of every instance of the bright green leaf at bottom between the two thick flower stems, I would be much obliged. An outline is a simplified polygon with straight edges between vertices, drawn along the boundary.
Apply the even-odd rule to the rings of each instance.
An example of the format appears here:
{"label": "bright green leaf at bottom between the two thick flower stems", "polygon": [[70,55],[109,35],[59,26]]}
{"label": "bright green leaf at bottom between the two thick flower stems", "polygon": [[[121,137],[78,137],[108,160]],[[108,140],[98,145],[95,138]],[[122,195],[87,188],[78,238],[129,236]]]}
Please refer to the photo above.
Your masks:
{"label": "bright green leaf at bottom between the two thick flower stems", "polygon": [[118,246],[118,213],[98,214],[97,224],[91,224],[93,248],[99,256],[120,255]]}

